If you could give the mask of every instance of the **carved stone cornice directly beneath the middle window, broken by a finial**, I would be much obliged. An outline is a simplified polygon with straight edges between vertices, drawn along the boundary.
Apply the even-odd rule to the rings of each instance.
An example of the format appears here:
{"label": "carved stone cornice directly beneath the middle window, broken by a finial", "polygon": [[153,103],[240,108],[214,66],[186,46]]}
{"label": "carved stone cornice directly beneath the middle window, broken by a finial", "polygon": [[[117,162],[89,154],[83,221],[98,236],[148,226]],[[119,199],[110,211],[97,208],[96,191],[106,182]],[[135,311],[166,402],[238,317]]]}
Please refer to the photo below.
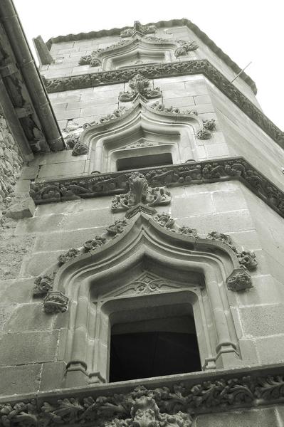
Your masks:
{"label": "carved stone cornice directly beneath the middle window, broken by a finial", "polygon": [[[152,187],[188,186],[238,179],[284,217],[283,191],[280,191],[243,157],[140,169],[139,172],[146,177],[149,186]],[[130,171],[123,171],[36,182],[31,184],[30,194],[36,204],[45,204],[126,193],[130,174]]]}

